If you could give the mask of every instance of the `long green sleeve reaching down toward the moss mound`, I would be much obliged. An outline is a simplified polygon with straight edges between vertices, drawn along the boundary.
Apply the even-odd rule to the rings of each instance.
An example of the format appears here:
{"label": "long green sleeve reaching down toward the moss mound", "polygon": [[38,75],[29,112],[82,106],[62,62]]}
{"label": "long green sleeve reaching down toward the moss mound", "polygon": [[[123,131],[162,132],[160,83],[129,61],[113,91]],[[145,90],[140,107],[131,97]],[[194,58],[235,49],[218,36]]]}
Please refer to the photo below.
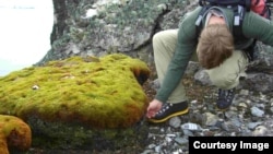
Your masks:
{"label": "long green sleeve reaching down toward the moss mound", "polygon": [[193,12],[186,15],[181,21],[178,42],[174,57],[168,66],[166,76],[158,90],[155,98],[165,103],[176,86],[180,83],[180,80],[187,69],[188,62],[191,59],[192,54],[197,47],[195,35],[195,20],[200,9],[195,9]]}

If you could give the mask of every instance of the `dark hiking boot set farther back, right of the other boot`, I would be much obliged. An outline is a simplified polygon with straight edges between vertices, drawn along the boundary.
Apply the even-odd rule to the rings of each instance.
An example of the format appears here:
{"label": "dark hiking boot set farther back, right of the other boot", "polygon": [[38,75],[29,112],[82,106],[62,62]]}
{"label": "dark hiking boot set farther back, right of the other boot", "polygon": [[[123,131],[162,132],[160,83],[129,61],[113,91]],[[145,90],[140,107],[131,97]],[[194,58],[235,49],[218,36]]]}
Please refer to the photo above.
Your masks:
{"label": "dark hiking boot set farther back, right of the other boot", "polygon": [[235,88],[232,90],[218,90],[218,98],[216,102],[216,106],[221,110],[226,110],[233,104],[233,99],[235,96]]}

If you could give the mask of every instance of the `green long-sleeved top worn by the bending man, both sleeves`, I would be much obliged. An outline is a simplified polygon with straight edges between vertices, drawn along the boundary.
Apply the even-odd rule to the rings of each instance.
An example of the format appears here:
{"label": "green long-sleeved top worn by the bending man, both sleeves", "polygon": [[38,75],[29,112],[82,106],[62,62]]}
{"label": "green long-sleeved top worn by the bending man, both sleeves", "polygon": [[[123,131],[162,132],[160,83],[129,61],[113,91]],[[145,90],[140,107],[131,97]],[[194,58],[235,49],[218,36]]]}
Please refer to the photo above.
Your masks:
{"label": "green long-sleeved top worn by the bending man, both sleeves", "polygon": [[[174,57],[168,66],[166,76],[157,91],[156,99],[165,103],[171,92],[176,88],[185,74],[186,68],[192,54],[197,49],[197,27],[195,21],[201,7],[187,13],[179,23],[178,42]],[[226,22],[230,31],[233,29],[234,11],[221,9],[225,14]],[[265,45],[273,46],[273,22],[253,12],[246,12],[242,21],[242,34],[248,38],[256,38]],[[240,49],[240,45],[235,45]]]}

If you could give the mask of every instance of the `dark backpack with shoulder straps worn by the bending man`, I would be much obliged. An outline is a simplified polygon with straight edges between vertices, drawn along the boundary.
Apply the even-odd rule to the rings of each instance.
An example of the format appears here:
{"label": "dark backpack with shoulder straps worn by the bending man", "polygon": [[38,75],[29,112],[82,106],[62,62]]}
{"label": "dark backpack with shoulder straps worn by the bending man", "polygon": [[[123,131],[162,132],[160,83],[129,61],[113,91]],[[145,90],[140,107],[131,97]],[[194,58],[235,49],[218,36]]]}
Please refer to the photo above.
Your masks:
{"label": "dark backpack with shoulder straps worn by the bending man", "polygon": [[[211,7],[225,7],[229,8],[234,11],[234,27],[233,27],[233,34],[236,39],[244,39],[245,36],[242,35],[241,31],[241,23],[245,16],[246,11],[250,11],[251,7],[254,7],[251,4],[252,0],[199,0],[199,5],[202,7],[202,10],[199,13],[199,16],[195,21],[197,26],[197,35],[199,36],[202,29],[202,19],[205,12]],[[264,16],[270,20],[271,17],[271,8],[273,0],[256,0],[254,4],[259,4],[259,2],[264,2],[263,11],[258,13],[261,16]],[[245,49],[248,52],[248,56],[250,60],[253,60],[253,52],[254,52],[254,46],[257,40],[253,42],[253,44]]]}

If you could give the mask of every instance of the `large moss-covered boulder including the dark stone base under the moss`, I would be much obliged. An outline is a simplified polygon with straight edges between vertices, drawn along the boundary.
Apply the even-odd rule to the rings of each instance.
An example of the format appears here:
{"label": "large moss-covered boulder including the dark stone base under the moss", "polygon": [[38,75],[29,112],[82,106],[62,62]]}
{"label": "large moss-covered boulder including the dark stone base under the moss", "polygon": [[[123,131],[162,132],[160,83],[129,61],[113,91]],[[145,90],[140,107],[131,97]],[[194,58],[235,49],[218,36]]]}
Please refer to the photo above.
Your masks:
{"label": "large moss-covered boulder including the dark stone base under the moss", "polygon": [[119,137],[145,137],[135,126],[147,107],[149,76],[146,63],[121,54],[50,61],[0,79],[0,114],[24,119],[37,146],[127,146]]}

